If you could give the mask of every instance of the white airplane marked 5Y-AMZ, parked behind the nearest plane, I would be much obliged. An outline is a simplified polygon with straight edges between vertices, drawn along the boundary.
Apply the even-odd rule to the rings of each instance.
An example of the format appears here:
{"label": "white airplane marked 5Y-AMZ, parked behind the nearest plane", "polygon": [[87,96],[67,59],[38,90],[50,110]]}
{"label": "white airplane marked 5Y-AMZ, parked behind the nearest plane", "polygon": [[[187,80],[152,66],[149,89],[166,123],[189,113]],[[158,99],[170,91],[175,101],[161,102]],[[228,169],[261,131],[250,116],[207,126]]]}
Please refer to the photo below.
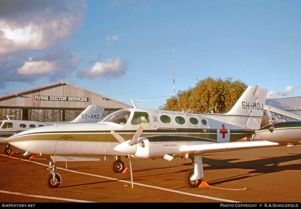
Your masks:
{"label": "white airplane marked 5Y-AMZ, parked behind the nearest plane", "polygon": [[[83,112],[79,114],[73,121],[70,122],[36,122],[36,121],[25,121],[25,120],[12,120],[12,117],[6,116],[7,120],[0,121],[0,145],[6,145],[4,149],[5,154],[10,154],[12,148],[10,144],[4,141],[4,139],[20,132],[31,128],[43,127],[48,125],[54,125],[58,123],[95,123],[100,121],[104,107],[89,105]],[[29,156],[29,155],[25,155]]]}

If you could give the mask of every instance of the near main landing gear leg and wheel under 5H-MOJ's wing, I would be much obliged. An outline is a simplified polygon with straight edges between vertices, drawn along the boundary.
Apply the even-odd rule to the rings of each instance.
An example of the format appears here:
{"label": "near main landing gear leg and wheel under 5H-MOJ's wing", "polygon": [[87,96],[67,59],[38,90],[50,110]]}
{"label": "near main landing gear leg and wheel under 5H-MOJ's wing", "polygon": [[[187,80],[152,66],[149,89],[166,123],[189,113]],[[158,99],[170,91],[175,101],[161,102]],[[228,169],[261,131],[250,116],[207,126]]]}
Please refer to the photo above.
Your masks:
{"label": "near main landing gear leg and wheel under 5H-MOJ's wing", "polygon": [[201,155],[194,156],[194,169],[190,169],[187,171],[185,175],[185,185],[188,188],[197,188],[202,182],[203,178],[203,162]]}

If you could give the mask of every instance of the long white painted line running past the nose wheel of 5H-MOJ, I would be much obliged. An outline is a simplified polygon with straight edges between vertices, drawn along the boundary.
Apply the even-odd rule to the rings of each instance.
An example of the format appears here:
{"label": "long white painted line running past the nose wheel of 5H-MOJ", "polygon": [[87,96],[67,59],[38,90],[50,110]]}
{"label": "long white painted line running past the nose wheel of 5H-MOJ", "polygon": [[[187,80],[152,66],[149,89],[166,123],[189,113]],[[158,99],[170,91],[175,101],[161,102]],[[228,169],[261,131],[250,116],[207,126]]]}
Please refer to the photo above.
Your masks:
{"label": "long white painted line running past the nose wheel of 5H-MOJ", "polygon": [[[0,155],[5,156],[5,157],[10,157],[10,158],[18,159],[18,160],[23,160],[23,161],[30,162],[30,163],[36,163],[36,164],[39,164],[39,165],[42,165],[42,166],[48,166],[49,167],[49,165],[38,163],[38,162],[34,162],[34,161],[30,161],[30,160],[24,160],[24,159],[20,159],[20,158],[17,158],[17,157],[11,157],[11,156],[7,156],[7,155],[3,155],[3,154],[0,154]],[[57,167],[57,169],[61,169],[61,170],[65,170],[65,171],[69,171],[69,172],[73,172],[73,173],[84,174],[84,175],[88,175],[88,176],[95,176],[95,177],[99,177],[99,178],[104,178],[104,179],[109,179],[109,180],[113,180],[113,181],[119,181],[119,182],[125,182],[125,183],[131,184],[130,181],[125,181],[125,180],[120,180],[120,179],[114,179],[114,178],[110,178],[110,177],[106,177],[106,176],[100,176],[100,175],[95,175],[95,174],[90,174],[90,173],[82,173],[82,172],[78,172],[78,171],[74,171],[74,170],[68,170],[68,169],[59,168],[59,167]],[[205,196],[205,195],[196,195],[196,194],[192,194],[192,193],[188,193],[188,192],[181,192],[181,191],[176,191],[176,190],[172,190],[172,189],[166,189],[166,188],[162,188],[162,187],[151,186],[151,185],[146,185],[146,184],[140,184],[140,183],[135,183],[135,182],[133,182],[133,184],[139,185],[139,186],[144,186],[144,187],[149,187],[149,188],[154,188],[154,189],[160,189],[160,190],[167,191],[167,192],[174,192],[174,193],[178,193],[178,194],[182,194],[182,195],[189,195],[189,196],[194,196],[194,197],[206,198],[206,199],[210,199],[210,200],[217,200],[217,201],[224,201],[224,202],[237,202],[237,201],[233,201],[233,200],[227,200],[227,199],[222,199],[222,198],[214,198],[214,197],[209,197],[209,196]]]}

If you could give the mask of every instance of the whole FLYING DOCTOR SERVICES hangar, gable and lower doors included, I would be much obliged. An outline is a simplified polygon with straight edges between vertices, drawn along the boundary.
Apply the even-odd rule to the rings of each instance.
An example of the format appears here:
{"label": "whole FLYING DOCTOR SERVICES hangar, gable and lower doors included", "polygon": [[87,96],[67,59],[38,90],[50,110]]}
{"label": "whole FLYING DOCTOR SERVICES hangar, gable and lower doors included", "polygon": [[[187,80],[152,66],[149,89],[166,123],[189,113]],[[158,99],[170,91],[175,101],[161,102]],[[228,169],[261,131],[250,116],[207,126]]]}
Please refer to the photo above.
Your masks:
{"label": "whole FLYING DOCTOR SERVICES hangar, gable and lower doors included", "polygon": [[89,105],[104,106],[103,116],[133,106],[64,81],[0,97],[0,120],[71,121]]}

